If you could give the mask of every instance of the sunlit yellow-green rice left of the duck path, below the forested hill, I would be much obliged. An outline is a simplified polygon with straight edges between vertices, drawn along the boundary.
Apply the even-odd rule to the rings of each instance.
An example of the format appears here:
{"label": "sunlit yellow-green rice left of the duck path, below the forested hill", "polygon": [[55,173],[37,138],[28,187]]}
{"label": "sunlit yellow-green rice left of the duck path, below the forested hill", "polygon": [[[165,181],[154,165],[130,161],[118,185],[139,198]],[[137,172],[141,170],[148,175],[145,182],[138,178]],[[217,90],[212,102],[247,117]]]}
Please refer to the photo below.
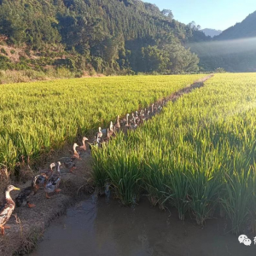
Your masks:
{"label": "sunlit yellow-green rice left of the duck path, below the forested hill", "polygon": [[42,154],[127,112],[146,107],[203,75],[65,79],[1,84],[0,164],[14,172],[21,156]]}

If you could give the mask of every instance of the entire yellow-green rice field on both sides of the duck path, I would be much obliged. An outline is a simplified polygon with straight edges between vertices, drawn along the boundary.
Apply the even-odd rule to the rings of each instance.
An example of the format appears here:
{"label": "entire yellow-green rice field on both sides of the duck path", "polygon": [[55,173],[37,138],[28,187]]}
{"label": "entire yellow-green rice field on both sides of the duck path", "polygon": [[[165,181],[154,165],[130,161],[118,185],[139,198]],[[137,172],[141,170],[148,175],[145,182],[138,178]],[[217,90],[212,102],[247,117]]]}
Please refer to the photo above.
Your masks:
{"label": "entire yellow-green rice field on both sides of the duck path", "polygon": [[[170,96],[205,75],[66,79],[1,84],[0,164],[92,136],[116,116]],[[256,74],[215,74],[136,131],[92,147],[97,191],[125,206],[147,196],[178,217],[226,218],[229,230],[256,232]]]}

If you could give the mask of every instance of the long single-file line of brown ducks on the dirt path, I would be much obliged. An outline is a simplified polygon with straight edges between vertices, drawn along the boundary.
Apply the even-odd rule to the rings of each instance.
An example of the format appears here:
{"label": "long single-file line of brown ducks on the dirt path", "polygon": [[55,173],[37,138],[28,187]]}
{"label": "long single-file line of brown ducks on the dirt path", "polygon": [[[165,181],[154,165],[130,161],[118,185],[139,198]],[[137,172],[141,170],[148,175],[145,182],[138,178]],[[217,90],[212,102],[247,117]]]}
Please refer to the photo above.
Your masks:
{"label": "long single-file line of brown ducks on the dirt path", "polygon": [[[93,143],[90,144],[91,147],[102,147],[104,143],[116,135],[118,131],[122,128],[123,130],[136,130],[138,125],[142,125],[143,122],[150,119],[156,113],[160,113],[163,106],[166,105],[166,101],[160,102],[160,104],[152,104],[148,108],[144,108],[141,111],[136,111],[135,113],[127,113],[125,119],[119,119],[117,117],[116,123],[113,125],[113,122],[110,122],[109,128],[102,130],[99,127],[98,132],[93,140]],[[59,193],[59,185],[61,183],[61,162],[69,170],[69,172],[74,172],[76,169],[76,160],[80,159],[81,153],[86,151],[86,142],[88,141],[87,137],[83,137],[82,146],[79,146],[77,143],[73,144],[73,152],[71,157],[63,157],[61,161],[56,163],[51,163],[49,168],[40,170],[38,175],[32,177],[31,186],[26,189],[19,189],[13,185],[9,185],[5,189],[5,197],[3,205],[0,207],[0,233],[4,235],[5,229],[10,227],[6,225],[11,217],[15,207],[27,206],[29,208],[35,207],[34,204],[31,204],[29,198],[31,195],[36,195],[39,189],[44,189],[46,198],[49,199],[49,194]],[[19,195],[16,196],[15,201],[12,200],[10,192],[12,190],[20,190]]]}

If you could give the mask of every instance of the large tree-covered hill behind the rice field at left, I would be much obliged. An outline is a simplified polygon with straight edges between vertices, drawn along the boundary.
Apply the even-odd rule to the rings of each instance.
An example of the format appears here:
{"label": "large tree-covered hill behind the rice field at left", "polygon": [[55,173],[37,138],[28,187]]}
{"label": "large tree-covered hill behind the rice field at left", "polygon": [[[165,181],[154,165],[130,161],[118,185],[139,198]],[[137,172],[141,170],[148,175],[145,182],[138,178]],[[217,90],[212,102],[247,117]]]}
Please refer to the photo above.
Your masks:
{"label": "large tree-covered hill behind the rice field at left", "polygon": [[194,73],[195,26],[140,0],[0,0],[0,69]]}

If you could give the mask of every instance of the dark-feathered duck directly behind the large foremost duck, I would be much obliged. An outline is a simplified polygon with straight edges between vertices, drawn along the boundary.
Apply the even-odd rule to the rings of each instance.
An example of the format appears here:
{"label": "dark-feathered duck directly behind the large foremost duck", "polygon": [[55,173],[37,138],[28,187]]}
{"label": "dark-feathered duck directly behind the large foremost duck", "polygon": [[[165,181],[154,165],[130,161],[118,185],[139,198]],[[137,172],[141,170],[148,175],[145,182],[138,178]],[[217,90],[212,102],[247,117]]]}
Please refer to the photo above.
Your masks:
{"label": "dark-feathered duck directly behind the large foremost duck", "polygon": [[30,187],[27,187],[26,189],[22,189],[20,190],[19,195],[16,196],[15,198],[15,203],[17,207],[22,207],[27,205],[27,207],[32,208],[35,207],[34,204],[31,204],[29,202],[29,198],[32,195],[36,195],[36,193],[38,192],[38,189],[36,187],[36,182],[37,182],[37,176],[32,178],[32,184]]}

